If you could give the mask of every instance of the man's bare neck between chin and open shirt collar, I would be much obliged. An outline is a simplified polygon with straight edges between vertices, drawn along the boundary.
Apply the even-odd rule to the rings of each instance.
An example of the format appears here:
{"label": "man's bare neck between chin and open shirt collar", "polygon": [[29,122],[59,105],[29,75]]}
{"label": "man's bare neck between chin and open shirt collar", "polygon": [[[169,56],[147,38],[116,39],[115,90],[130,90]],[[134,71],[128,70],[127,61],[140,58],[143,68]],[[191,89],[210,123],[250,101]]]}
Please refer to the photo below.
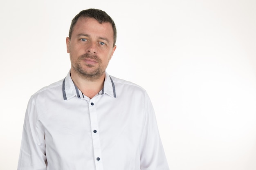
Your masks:
{"label": "man's bare neck between chin and open shirt collar", "polygon": [[83,77],[77,74],[74,70],[71,69],[71,78],[74,84],[82,91],[84,95],[90,99],[94,97],[104,86],[105,73],[93,79],[90,77]]}

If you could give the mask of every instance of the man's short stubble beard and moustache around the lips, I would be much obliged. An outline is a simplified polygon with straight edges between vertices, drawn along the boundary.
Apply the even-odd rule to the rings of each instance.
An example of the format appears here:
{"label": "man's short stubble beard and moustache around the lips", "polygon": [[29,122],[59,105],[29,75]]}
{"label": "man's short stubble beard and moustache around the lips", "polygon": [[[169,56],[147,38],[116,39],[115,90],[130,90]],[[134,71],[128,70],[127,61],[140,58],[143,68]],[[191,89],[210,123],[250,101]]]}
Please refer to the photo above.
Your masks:
{"label": "man's short stubble beard and moustache around the lips", "polygon": [[[84,66],[82,65],[82,60],[85,60],[87,58],[95,60],[96,62],[98,62],[99,66],[97,68],[94,68],[95,66],[91,64],[84,64],[84,66],[87,67],[84,68]],[[105,73],[106,69],[102,67],[102,61],[97,55],[90,55],[88,53],[79,56],[76,62],[72,64],[72,67],[79,76],[90,81],[95,81],[99,79]]]}

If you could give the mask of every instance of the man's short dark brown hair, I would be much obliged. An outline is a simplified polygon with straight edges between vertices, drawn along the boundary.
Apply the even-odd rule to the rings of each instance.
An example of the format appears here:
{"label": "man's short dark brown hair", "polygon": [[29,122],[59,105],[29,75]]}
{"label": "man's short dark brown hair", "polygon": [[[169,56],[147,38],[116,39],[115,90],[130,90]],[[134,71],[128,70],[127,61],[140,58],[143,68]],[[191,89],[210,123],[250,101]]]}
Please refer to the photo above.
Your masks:
{"label": "man's short dark brown hair", "polygon": [[78,19],[79,18],[86,18],[86,17],[94,18],[100,24],[102,24],[103,22],[109,22],[112,25],[112,29],[113,29],[113,32],[114,32],[114,44],[113,44],[113,46],[115,46],[116,41],[117,41],[117,29],[116,29],[115,22],[112,20],[112,18],[105,11],[102,11],[100,9],[86,9],[86,10],[81,11],[79,14],[77,14],[71,22],[70,32],[69,32],[68,36],[71,38],[73,28],[74,28],[76,22],[78,21]]}

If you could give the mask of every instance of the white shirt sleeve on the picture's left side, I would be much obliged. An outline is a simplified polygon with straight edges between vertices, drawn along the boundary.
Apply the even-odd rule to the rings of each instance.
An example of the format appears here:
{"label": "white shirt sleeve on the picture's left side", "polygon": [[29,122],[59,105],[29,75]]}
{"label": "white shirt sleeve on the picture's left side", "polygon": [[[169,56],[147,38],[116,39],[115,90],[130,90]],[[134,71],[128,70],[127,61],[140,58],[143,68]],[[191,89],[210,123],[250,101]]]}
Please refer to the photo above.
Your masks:
{"label": "white shirt sleeve on the picture's left side", "polygon": [[45,134],[38,126],[36,104],[31,97],[23,125],[18,170],[46,170]]}

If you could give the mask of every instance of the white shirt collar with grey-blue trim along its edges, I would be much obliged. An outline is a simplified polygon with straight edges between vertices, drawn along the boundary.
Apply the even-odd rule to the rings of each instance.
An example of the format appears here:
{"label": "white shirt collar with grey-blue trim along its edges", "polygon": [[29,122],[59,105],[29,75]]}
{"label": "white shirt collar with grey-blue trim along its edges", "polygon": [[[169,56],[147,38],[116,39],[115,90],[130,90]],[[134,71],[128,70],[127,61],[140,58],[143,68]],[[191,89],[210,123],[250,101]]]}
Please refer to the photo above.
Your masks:
{"label": "white shirt collar with grey-blue trim along its edges", "polygon": [[[76,87],[76,85],[74,84],[70,76],[70,71],[67,73],[67,76],[63,80],[62,93],[63,93],[64,100],[68,100],[74,96],[80,99],[82,96],[82,92],[79,90],[79,88]],[[116,98],[115,84],[112,78],[110,77],[110,75],[108,75],[106,71],[105,71],[104,86],[103,86],[103,89],[99,92],[99,95],[103,95],[105,93],[110,95],[111,97]]]}

